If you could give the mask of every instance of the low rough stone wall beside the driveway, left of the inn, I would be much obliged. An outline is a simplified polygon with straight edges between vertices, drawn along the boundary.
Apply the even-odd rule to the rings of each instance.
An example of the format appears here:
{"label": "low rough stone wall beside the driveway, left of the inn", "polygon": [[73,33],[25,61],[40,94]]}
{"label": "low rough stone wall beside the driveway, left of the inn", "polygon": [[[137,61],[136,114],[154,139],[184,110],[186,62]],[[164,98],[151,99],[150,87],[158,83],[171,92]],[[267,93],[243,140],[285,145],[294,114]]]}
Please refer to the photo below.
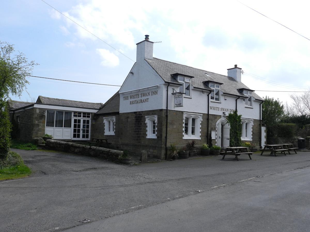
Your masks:
{"label": "low rough stone wall beside the driveway, left of the inn", "polygon": [[108,159],[111,161],[116,161],[117,158],[123,153],[122,151],[117,151],[113,149],[86,146],[82,144],[75,144],[58,140],[46,140],[45,147],[51,150],[70,152],[79,155],[103,157],[104,159]]}

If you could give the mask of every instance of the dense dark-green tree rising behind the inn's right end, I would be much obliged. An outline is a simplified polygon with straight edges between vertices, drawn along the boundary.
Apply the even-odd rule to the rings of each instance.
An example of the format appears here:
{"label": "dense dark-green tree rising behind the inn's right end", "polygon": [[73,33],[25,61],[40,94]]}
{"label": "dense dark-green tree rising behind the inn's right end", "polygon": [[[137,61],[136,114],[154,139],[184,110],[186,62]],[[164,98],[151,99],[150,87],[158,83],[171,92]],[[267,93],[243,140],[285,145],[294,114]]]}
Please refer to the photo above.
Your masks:
{"label": "dense dark-green tree rising behind the inn's right end", "polygon": [[267,138],[277,134],[277,125],[284,116],[284,106],[279,99],[265,97],[262,104],[262,123],[267,127]]}

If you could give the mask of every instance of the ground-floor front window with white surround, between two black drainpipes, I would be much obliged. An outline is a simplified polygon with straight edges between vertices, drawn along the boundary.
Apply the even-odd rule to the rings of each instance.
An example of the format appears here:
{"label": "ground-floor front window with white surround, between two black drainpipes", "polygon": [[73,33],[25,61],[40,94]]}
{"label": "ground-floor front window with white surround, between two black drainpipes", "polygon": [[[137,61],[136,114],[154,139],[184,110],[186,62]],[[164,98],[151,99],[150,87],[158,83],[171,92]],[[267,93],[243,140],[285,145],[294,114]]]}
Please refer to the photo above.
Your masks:
{"label": "ground-floor front window with white surround, between two black drainpipes", "polygon": [[183,113],[183,139],[201,139],[202,114]]}

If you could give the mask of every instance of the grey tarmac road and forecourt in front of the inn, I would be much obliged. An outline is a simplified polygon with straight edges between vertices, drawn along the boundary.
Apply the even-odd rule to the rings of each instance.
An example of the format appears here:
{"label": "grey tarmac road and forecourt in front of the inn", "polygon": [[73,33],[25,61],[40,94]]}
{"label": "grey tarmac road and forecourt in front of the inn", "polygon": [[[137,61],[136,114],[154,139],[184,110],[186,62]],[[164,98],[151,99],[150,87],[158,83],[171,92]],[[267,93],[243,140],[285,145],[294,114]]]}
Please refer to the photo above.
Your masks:
{"label": "grey tarmac road and forecourt in front of the inn", "polygon": [[[153,223],[155,223],[152,227],[153,230],[147,231],[161,231],[159,226],[160,217],[172,218],[177,215],[178,219],[185,219],[183,224],[187,224],[188,221],[194,222],[195,218],[199,218],[197,217],[197,212],[199,214],[206,212],[206,216],[202,214],[204,217],[199,219],[201,221],[209,218],[209,220],[212,220],[212,223],[219,220],[222,223],[234,225],[234,220],[227,217],[229,212],[232,215],[236,212],[232,210],[233,202],[242,206],[240,202],[242,199],[245,199],[245,204],[250,204],[249,199],[256,199],[255,202],[260,202],[260,204],[267,206],[272,204],[279,204],[281,206],[280,203],[273,202],[273,198],[270,196],[286,193],[286,195],[279,195],[277,198],[287,199],[287,196],[294,196],[296,194],[294,189],[309,192],[309,189],[307,189],[309,178],[306,178],[307,176],[309,177],[307,172],[310,166],[309,152],[299,152],[298,154],[287,156],[279,155],[277,157],[254,154],[252,160],[244,156],[241,157],[243,159],[240,161],[232,159],[221,160],[221,156],[216,156],[123,166],[96,157],[58,152],[13,150],[23,156],[25,163],[35,173],[28,178],[0,182],[0,192],[2,195],[0,210],[2,223],[0,231],[62,231],[69,228],[72,228],[72,231],[78,231],[78,228],[86,226],[80,222],[80,220],[85,218],[91,220],[91,223],[87,225],[90,226],[95,225],[93,223],[101,223],[113,218],[117,220],[117,218],[127,217],[127,215],[128,217],[132,215],[130,221],[137,225],[143,225],[153,219]],[[299,179],[299,175],[292,175],[298,171],[302,173],[300,176],[303,178]],[[258,181],[264,179],[266,185],[255,182],[256,179],[245,181],[244,183],[238,182],[256,176],[265,176],[259,178]],[[278,177],[276,182],[279,184],[275,188],[274,184],[276,182],[268,182],[268,179],[272,180],[276,176]],[[284,176],[285,181],[280,181]],[[250,183],[254,183],[254,186],[247,189],[246,187],[250,186]],[[223,184],[226,186],[213,188]],[[256,186],[259,184],[261,186]],[[288,188],[288,184],[292,187]],[[257,194],[266,186],[270,186],[267,188],[271,191],[267,195],[269,198],[263,197],[264,194]],[[198,193],[196,190],[201,190],[202,192]],[[229,195],[225,195],[227,194],[225,191],[228,191]],[[234,194],[230,194],[231,191],[234,191]],[[296,201],[291,201],[291,204],[290,202],[285,204],[286,208],[290,210],[290,218],[285,217],[283,208],[280,208],[280,211],[275,211],[274,214],[271,213],[271,215],[268,214],[268,211],[264,211],[264,208],[259,208],[261,211],[257,212],[261,212],[261,214],[258,214],[257,217],[252,217],[251,215],[256,211],[252,212],[251,208],[246,206],[244,206],[245,216],[234,216],[234,218],[237,221],[249,218],[255,225],[255,223],[264,223],[261,217],[258,216],[267,213],[269,221],[274,218],[274,215],[282,215],[283,220],[293,218],[298,221],[298,218],[295,218],[295,214],[299,218],[302,213],[304,215],[309,214],[309,202],[305,200],[308,195],[307,197],[303,195],[303,191],[300,192]],[[229,197],[231,195],[242,195],[242,198],[234,199],[234,197]],[[204,203],[202,196],[205,196],[205,201],[210,199],[208,205],[202,204]],[[217,214],[215,209],[218,208],[219,201],[223,201],[225,204],[221,205],[223,211],[219,211],[219,214]],[[193,204],[193,202],[196,203]],[[297,203],[302,203],[307,207],[297,209],[294,207]],[[175,207],[175,211],[162,211],[160,207],[163,204],[168,204],[169,207],[166,206],[167,208],[173,209]],[[196,211],[196,214],[191,214],[193,217],[188,216],[189,214],[186,213],[184,214],[186,215],[185,217],[182,214],[179,215],[179,210],[186,211],[186,206],[193,208],[193,212]],[[229,207],[226,208],[226,206]],[[156,207],[158,207],[157,210]],[[236,207],[237,209],[242,208],[238,208],[235,205],[234,208]],[[145,215],[148,215],[152,211],[152,217],[138,217],[134,215],[134,213],[139,212],[145,212]],[[166,215],[167,213],[168,215]],[[225,213],[225,217],[222,218],[221,213]],[[237,213],[240,212],[238,211]],[[278,216],[274,220],[275,222],[280,219]],[[264,218],[264,220],[266,219]],[[166,222],[162,221],[162,223]],[[152,223],[148,224],[152,225]],[[282,224],[285,225],[285,223]],[[80,225],[83,226],[80,227]],[[179,225],[182,225],[182,223]],[[215,223],[215,225],[217,224]],[[245,223],[244,229],[246,229],[246,225]],[[174,228],[178,227],[171,227],[170,231],[175,231],[173,230]],[[208,228],[210,231],[214,229],[210,225]],[[113,227],[110,227],[110,229],[101,231],[113,231]],[[118,229],[114,231],[131,231],[126,230],[128,227],[124,225],[124,230]],[[188,228],[186,229],[186,225],[178,228],[178,230],[190,231]],[[203,227],[200,230],[204,230]],[[225,231],[224,227],[222,231]]]}

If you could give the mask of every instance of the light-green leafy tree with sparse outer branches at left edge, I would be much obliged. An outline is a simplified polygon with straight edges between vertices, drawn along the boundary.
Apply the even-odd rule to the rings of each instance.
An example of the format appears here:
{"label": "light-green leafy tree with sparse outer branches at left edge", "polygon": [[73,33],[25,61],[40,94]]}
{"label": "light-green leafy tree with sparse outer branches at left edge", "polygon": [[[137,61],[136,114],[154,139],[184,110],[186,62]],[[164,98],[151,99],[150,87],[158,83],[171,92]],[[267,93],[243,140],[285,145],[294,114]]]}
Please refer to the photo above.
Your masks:
{"label": "light-green leafy tree with sparse outer branches at left edge", "polygon": [[26,75],[31,75],[34,65],[23,53],[15,52],[13,45],[0,41],[0,159],[9,152],[11,140],[6,101],[10,94],[21,96],[29,84]]}

